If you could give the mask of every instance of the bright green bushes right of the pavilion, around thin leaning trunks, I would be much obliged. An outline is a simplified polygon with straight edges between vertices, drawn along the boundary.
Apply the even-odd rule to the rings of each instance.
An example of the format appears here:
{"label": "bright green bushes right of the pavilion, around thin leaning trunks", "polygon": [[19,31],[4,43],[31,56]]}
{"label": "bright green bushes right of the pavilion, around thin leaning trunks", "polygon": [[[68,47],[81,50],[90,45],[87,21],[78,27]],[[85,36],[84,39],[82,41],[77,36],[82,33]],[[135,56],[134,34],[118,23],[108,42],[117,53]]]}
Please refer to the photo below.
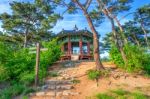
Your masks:
{"label": "bright green bushes right of the pavilion, around thin leaning trunks", "polygon": [[111,59],[118,67],[129,72],[144,70],[146,74],[150,74],[150,55],[145,52],[144,48],[128,44],[124,47],[124,51],[128,59],[127,66],[124,65],[121,54],[115,46],[112,46],[110,50]]}

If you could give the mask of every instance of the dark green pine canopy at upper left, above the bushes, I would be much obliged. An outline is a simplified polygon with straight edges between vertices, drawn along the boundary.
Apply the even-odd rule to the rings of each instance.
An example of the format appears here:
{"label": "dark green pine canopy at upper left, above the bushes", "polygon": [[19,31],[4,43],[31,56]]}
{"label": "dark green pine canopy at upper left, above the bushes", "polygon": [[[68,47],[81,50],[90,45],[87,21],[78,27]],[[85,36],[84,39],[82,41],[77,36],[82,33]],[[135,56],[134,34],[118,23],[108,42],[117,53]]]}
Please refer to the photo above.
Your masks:
{"label": "dark green pine canopy at upper left, above the bushes", "polygon": [[[49,31],[60,18],[59,14],[54,13],[53,5],[35,0],[35,2],[16,2],[10,3],[12,14],[0,14],[2,28],[7,34],[11,34],[11,42],[27,44],[37,41],[47,41],[52,38]],[[17,37],[17,38],[16,38]]]}

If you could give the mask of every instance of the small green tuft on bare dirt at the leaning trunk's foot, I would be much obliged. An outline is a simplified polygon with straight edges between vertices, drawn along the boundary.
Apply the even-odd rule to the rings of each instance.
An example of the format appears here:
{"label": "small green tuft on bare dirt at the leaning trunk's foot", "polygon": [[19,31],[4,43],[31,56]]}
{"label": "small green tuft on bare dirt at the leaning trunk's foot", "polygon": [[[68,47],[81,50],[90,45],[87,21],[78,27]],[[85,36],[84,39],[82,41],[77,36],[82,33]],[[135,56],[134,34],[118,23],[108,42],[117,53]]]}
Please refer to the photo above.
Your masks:
{"label": "small green tuft on bare dirt at the leaning trunk's foot", "polygon": [[88,70],[87,74],[88,74],[88,78],[91,80],[97,80],[101,76],[100,71],[92,70],[92,69]]}

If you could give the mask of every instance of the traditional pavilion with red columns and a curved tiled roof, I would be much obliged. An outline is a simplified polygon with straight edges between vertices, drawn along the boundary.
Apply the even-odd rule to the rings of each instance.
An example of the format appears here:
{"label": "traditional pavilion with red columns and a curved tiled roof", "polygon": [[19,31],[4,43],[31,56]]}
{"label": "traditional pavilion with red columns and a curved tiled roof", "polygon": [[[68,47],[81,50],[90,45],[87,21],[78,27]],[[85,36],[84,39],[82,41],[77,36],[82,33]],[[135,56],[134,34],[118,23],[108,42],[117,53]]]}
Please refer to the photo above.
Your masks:
{"label": "traditional pavilion with red columns and a curved tiled roof", "polygon": [[87,29],[62,30],[57,34],[58,43],[63,43],[61,50],[64,53],[61,60],[92,59],[93,34]]}

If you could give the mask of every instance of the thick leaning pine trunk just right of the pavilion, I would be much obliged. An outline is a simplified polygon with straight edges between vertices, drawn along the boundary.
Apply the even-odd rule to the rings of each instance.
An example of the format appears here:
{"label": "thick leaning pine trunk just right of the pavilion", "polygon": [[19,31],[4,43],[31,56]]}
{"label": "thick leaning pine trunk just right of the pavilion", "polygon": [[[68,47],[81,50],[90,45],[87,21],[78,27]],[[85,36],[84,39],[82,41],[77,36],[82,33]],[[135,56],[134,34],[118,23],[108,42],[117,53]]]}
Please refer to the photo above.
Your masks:
{"label": "thick leaning pine trunk just right of the pavilion", "polygon": [[96,64],[96,69],[104,69],[103,64],[100,61],[100,53],[99,53],[99,39],[98,39],[98,33],[93,25],[92,19],[90,18],[87,10],[79,3],[78,0],[74,0],[74,2],[81,8],[81,10],[84,13],[84,16],[87,19],[88,25],[93,33],[93,44],[94,44],[94,60]]}

